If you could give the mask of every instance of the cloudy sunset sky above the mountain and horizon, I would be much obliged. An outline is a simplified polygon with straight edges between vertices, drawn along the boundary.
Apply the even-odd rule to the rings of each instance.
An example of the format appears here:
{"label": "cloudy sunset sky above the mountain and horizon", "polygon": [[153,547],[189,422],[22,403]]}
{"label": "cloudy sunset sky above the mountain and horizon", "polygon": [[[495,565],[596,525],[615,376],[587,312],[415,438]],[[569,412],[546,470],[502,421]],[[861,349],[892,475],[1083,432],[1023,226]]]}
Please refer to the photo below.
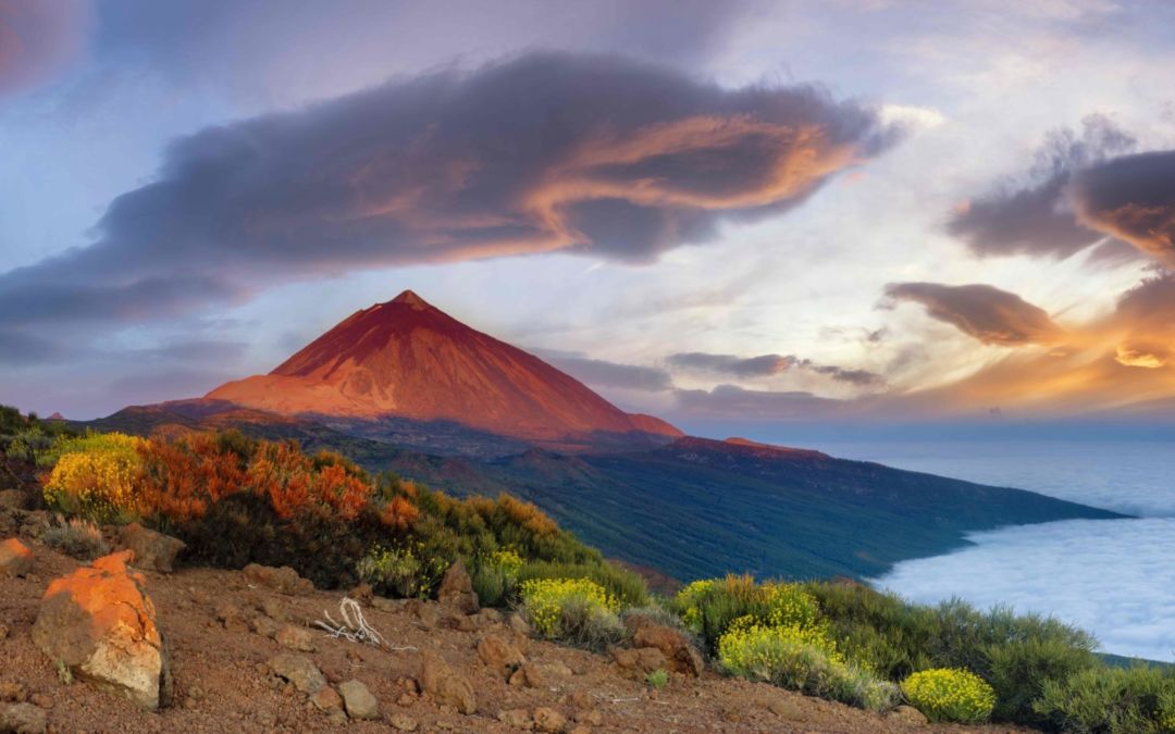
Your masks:
{"label": "cloudy sunset sky above the mountain and horizon", "polygon": [[1146,432],[1173,68],[1157,0],[0,0],[0,403],[412,289],[704,435]]}

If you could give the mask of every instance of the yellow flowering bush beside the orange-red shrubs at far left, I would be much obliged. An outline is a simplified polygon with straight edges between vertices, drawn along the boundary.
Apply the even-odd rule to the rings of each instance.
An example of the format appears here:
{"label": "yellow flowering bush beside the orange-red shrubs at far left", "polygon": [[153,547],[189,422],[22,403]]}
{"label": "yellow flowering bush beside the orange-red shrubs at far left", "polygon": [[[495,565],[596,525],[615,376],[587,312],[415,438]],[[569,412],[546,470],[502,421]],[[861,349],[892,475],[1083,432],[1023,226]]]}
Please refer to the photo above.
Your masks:
{"label": "yellow flowering bush beside the orange-red shrubs at far left", "polygon": [[125,433],[89,433],[54,445],[56,465],[45,482],[52,510],[106,523],[140,513],[136,492],[145,439]]}

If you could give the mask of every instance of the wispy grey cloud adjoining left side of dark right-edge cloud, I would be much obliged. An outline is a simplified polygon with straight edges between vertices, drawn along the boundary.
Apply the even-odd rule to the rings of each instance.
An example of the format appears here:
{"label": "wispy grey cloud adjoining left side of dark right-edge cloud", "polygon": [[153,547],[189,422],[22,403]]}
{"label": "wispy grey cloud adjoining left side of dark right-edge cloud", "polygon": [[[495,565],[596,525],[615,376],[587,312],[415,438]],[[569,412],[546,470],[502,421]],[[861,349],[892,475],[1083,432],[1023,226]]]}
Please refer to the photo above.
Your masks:
{"label": "wispy grey cloud adjoining left side of dark right-edge cloud", "polygon": [[1050,255],[1066,257],[1104,237],[1074,216],[1068,186],[1077,171],[1127,153],[1128,133],[1102,115],[1082,120],[1081,133],[1049,133],[1032,168],[1001,181],[951,217],[947,229],[976,255]]}

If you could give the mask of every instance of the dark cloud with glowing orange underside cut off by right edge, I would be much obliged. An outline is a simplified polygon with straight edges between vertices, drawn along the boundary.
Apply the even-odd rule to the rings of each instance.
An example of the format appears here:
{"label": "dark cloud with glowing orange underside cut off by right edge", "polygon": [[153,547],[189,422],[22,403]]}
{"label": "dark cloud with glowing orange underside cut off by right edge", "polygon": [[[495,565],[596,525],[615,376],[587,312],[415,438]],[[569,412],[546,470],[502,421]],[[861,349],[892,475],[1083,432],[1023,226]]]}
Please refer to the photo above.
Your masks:
{"label": "dark cloud with glowing orange underside cut off by right edge", "polygon": [[1107,161],[1074,177],[1081,223],[1175,267],[1175,150]]}

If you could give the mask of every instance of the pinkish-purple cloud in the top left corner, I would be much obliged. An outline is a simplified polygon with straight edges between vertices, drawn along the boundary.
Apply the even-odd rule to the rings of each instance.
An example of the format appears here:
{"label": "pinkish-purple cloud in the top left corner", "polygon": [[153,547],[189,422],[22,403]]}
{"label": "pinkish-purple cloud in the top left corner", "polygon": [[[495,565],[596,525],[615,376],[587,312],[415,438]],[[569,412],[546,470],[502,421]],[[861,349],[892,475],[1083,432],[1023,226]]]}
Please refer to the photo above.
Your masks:
{"label": "pinkish-purple cloud in the top left corner", "polygon": [[82,49],[82,0],[0,0],[0,95],[27,89]]}

